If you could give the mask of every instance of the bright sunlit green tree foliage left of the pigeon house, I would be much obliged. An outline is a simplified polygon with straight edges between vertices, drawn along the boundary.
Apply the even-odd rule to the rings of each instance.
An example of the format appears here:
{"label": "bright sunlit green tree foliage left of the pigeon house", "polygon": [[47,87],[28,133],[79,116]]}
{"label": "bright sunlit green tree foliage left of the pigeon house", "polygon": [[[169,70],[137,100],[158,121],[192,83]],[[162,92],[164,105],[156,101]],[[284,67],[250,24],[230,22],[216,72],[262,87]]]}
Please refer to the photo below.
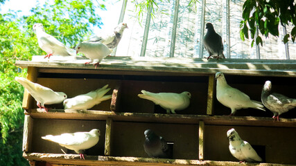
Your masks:
{"label": "bright sunlit green tree foliage left of the pigeon house", "polygon": [[55,0],[36,6],[32,15],[18,16],[18,12],[0,14],[0,165],[28,165],[22,157],[24,110],[21,108],[24,88],[14,80],[26,77],[26,69],[15,66],[15,60],[30,60],[32,55],[44,55],[37,44],[32,27],[42,23],[49,33],[68,45],[74,45],[100,26],[96,9],[105,6],[90,0]]}

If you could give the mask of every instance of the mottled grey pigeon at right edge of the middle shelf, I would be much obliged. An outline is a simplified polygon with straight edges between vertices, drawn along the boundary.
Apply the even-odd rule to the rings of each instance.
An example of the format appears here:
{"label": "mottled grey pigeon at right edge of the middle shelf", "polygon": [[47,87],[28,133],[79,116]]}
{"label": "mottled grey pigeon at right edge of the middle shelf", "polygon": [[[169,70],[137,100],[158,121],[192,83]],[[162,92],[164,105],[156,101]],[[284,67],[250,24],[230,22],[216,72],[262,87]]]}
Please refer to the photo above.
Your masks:
{"label": "mottled grey pigeon at right edge of the middle shelf", "polygon": [[263,105],[272,111],[272,118],[279,121],[281,113],[285,113],[296,107],[296,99],[288,98],[279,93],[272,93],[271,87],[271,82],[266,81],[262,89],[261,100]]}

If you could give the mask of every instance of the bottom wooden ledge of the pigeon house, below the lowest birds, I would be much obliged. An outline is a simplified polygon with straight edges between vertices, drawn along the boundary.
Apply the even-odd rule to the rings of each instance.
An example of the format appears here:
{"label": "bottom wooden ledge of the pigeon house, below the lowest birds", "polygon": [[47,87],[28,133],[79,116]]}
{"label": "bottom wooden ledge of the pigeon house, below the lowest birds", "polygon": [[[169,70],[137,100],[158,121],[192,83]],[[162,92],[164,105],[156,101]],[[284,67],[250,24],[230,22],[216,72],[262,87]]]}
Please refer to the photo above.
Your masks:
{"label": "bottom wooden ledge of the pigeon house, below the lowest birds", "polygon": [[[24,158],[28,160],[43,160],[51,165],[217,165],[217,166],[283,166],[272,163],[239,163],[231,161],[213,161],[213,160],[181,160],[165,158],[134,158],[134,157],[110,157],[110,156],[85,156],[81,160],[78,154],[39,154],[24,153]],[[292,165],[286,165],[292,166]]]}

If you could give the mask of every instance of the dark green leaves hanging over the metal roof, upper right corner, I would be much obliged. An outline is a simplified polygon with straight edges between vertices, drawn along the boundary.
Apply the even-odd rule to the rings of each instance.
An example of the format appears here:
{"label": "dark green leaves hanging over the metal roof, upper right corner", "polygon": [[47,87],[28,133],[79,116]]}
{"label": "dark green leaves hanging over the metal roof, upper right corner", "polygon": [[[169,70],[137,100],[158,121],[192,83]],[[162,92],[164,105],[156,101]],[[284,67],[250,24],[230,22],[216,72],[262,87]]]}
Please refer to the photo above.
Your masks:
{"label": "dark green leaves hanging over the metal roof, upper right corner", "polygon": [[[292,24],[294,28],[284,37],[284,43],[290,38],[295,42],[296,37],[296,13],[294,0],[246,0],[243,4],[243,21],[241,21],[241,39],[248,39],[249,32],[252,39],[252,46],[263,45],[261,37],[255,35],[256,30],[268,37],[273,35],[279,37],[279,26]],[[256,39],[255,39],[256,37]]]}

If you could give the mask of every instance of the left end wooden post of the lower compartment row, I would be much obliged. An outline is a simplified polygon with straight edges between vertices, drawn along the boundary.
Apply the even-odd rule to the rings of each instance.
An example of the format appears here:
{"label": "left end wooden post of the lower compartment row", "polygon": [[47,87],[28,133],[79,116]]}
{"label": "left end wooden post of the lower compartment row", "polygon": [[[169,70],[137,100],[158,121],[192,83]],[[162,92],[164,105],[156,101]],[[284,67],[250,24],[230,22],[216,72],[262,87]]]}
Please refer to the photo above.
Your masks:
{"label": "left end wooden post of the lower compartment row", "polygon": [[26,115],[24,120],[23,151],[31,151],[33,118]]}

